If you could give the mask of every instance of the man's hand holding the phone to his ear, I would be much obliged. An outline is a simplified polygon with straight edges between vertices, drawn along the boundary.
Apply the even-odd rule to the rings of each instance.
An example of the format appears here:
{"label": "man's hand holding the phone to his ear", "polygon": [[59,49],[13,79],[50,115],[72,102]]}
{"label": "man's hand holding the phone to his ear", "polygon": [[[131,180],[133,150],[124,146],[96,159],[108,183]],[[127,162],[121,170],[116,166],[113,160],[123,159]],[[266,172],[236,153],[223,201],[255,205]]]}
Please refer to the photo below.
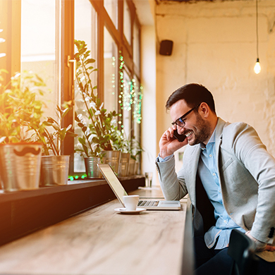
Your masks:
{"label": "man's hand holding the phone to his ear", "polygon": [[173,137],[173,131],[176,128],[170,127],[168,130],[164,132],[159,140],[159,149],[160,149],[160,156],[164,159],[164,157],[168,157],[176,150],[180,149],[181,147],[188,144],[187,138],[183,142],[179,142],[176,138]]}

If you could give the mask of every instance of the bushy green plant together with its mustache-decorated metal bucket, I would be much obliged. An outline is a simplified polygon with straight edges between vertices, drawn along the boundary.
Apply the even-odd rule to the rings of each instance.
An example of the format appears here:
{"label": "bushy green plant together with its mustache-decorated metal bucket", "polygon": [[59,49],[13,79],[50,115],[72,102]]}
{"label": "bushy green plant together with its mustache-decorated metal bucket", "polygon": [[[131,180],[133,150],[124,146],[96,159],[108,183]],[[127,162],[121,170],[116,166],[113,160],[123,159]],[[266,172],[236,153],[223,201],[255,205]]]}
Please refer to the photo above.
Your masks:
{"label": "bushy green plant together with its mustache-decorated metal bucket", "polygon": [[17,73],[4,84],[0,70],[0,172],[5,191],[39,187],[42,144],[34,142],[33,129],[42,117],[43,80],[34,73]]}

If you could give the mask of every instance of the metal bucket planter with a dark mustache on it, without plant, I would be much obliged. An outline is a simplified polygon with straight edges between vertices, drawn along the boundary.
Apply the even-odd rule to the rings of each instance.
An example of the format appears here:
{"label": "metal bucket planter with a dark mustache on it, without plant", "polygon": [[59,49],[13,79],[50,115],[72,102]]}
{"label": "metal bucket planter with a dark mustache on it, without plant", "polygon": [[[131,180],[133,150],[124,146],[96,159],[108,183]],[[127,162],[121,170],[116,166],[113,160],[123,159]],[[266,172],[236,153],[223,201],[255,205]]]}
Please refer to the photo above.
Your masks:
{"label": "metal bucket planter with a dark mustache on it, without plant", "polygon": [[4,191],[39,188],[42,144],[0,145],[1,185]]}

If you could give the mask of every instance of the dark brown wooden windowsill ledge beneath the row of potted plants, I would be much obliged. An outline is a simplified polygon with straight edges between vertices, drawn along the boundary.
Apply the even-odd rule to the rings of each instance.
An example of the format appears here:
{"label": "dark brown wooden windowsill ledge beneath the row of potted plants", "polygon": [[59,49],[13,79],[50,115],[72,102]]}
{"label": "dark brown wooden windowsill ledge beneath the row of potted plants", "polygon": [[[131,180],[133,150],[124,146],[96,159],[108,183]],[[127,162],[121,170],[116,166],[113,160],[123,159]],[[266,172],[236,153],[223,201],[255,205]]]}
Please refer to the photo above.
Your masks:
{"label": "dark brown wooden windowsill ledge beneath the row of potted plants", "polygon": [[[145,186],[143,176],[120,178],[126,192]],[[104,179],[4,193],[0,190],[0,245],[56,224],[116,197]]]}

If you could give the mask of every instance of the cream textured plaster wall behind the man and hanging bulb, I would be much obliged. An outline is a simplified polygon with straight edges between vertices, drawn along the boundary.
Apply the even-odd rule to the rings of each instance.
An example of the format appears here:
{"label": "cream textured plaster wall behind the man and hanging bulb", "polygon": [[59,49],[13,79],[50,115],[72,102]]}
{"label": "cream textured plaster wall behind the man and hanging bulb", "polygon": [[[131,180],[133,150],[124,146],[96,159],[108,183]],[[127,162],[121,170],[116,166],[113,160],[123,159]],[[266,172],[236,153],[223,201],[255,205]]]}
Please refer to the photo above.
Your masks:
{"label": "cream textured plaster wall behind the man and hanging bulb", "polygon": [[157,37],[173,40],[173,52],[157,53],[157,152],[171,125],[166,99],[178,87],[197,82],[214,94],[218,116],[255,127],[275,156],[275,1],[258,5],[262,72],[256,75],[255,1],[159,2]]}

